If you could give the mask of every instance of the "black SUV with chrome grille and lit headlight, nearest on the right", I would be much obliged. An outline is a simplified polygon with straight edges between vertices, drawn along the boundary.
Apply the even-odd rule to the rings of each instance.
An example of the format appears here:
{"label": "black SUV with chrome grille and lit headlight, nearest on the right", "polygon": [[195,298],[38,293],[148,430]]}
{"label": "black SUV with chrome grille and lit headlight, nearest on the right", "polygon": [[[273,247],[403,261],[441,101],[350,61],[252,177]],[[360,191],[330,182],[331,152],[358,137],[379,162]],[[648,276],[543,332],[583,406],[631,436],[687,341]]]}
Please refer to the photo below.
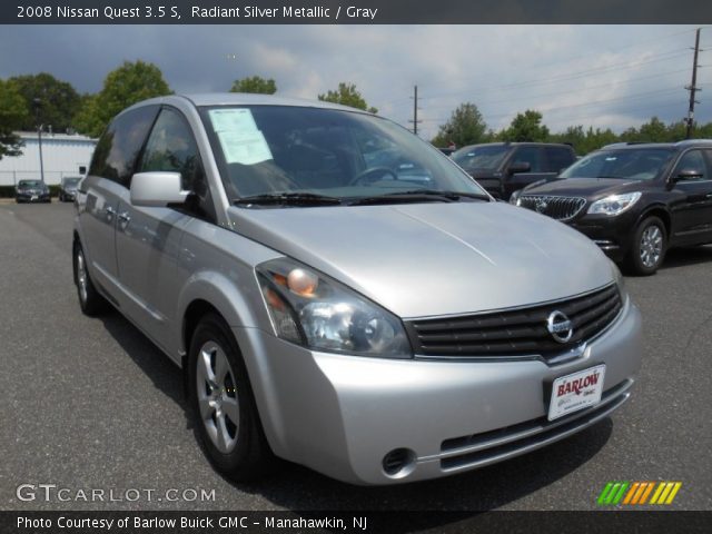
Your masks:
{"label": "black SUV with chrome grille and lit headlight, nearest on the right", "polygon": [[510,201],[564,221],[652,275],[672,247],[712,243],[712,140],[616,144]]}

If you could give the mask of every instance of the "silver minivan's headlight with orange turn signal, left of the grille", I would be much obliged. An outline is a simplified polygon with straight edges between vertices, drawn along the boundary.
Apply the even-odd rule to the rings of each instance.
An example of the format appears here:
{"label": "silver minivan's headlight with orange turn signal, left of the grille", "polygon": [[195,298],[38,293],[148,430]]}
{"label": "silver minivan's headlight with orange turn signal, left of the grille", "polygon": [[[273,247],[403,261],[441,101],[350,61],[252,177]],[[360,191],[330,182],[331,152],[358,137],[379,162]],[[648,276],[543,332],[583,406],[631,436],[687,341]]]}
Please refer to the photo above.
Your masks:
{"label": "silver minivan's headlight with orange turn signal, left of the grille", "polygon": [[353,289],[288,258],[257,266],[275,334],[315,349],[411,358],[400,320]]}

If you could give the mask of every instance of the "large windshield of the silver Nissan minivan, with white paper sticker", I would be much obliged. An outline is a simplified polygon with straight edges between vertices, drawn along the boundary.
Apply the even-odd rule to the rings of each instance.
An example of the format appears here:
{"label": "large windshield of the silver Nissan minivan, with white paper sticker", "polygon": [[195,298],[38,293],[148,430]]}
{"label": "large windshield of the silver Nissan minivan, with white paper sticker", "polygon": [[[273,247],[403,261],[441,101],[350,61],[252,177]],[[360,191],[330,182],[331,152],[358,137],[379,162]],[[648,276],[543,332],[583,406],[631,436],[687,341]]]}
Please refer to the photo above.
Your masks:
{"label": "large windshield of the silver Nissan minivan, with white paper sticker", "polygon": [[379,117],[290,106],[210,107],[201,116],[233,201],[417,190],[486,195],[436,148]]}

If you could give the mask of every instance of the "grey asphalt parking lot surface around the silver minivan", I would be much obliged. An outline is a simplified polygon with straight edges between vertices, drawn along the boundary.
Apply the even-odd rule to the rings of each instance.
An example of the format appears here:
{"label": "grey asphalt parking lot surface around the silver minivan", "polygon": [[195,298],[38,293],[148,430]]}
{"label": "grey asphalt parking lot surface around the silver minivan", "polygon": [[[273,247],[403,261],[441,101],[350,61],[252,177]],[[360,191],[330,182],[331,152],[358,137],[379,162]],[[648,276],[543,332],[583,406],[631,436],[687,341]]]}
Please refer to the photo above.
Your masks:
{"label": "grey asphalt parking lot surface around the silver minivan", "polygon": [[[671,507],[712,510],[712,246],[626,278],[644,317],[644,364],[632,399],[599,425],[439,481],[356,487],[287,465],[247,485],[220,477],[196,444],[179,369],[118,314],[81,315],[72,217],[70,204],[0,205],[2,510],[595,510],[609,481],[660,479],[683,483]],[[21,484],[156,493],[26,502]],[[215,498],[158,501],[170,488]]]}

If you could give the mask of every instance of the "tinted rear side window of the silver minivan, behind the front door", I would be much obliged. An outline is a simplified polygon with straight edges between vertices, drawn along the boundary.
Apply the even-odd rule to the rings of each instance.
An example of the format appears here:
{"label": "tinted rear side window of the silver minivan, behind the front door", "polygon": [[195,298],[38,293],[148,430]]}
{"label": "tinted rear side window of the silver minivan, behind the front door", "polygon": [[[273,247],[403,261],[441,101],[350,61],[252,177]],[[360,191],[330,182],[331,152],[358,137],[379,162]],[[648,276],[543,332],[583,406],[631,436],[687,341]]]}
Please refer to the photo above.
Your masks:
{"label": "tinted rear side window of the silver minivan, behind the front door", "polygon": [[129,187],[131,174],[158,106],[144,106],[119,115],[97,144],[89,174]]}

